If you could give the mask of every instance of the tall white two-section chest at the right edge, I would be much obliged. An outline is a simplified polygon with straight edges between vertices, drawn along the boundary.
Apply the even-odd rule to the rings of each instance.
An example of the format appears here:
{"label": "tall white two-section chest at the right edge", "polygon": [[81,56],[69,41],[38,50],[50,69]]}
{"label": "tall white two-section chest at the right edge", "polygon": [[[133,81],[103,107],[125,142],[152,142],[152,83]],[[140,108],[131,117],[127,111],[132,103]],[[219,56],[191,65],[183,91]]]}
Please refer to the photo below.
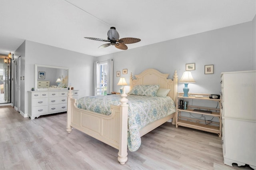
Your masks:
{"label": "tall white two-section chest at the right edge", "polygon": [[256,71],[221,73],[224,164],[256,169]]}

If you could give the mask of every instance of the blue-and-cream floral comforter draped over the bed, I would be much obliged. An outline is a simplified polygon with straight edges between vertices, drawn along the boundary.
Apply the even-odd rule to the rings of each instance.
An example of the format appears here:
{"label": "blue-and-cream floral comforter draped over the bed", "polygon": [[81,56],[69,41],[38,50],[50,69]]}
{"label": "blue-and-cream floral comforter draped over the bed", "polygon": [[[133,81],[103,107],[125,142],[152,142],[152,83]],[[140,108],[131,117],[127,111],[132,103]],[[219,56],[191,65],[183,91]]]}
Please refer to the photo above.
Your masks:
{"label": "blue-and-cream floral comforter draped over the bed", "polygon": [[[77,100],[77,107],[104,115],[110,115],[111,105],[120,105],[120,95],[87,96]],[[128,95],[128,148],[136,151],[140,147],[139,131],[146,125],[176,111],[170,97],[148,97]]]}

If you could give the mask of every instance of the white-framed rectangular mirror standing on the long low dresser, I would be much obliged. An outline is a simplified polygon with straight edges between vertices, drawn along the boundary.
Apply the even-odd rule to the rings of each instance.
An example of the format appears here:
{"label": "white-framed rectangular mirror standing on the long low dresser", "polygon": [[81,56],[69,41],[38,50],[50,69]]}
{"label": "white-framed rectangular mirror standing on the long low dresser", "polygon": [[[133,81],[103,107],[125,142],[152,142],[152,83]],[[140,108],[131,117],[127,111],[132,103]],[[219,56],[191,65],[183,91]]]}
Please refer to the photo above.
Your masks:
{"label": "white-framed rectangular mirror standing on the long low dresser", "polygon": [[68,68],[35,64],[35,90],[67,88]]}

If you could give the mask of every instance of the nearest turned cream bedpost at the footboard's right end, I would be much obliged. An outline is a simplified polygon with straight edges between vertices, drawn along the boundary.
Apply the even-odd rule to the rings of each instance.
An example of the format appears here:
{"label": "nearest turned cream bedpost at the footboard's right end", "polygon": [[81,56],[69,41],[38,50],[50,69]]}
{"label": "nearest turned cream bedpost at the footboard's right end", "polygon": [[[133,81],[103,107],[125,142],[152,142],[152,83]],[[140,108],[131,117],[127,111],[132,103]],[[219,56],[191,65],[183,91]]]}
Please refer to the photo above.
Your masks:
{"label": "nearest turned cream bedpost at the footboard's right end", "polygon": [[120,99],[120,128],[122,129],[119,132],[119,152],[118,152],[118,161],[120,164],[125,164],[127,161],[127,131],[128,131],[128,99],[125,93],[125,88],[123,88],[123,94]]}

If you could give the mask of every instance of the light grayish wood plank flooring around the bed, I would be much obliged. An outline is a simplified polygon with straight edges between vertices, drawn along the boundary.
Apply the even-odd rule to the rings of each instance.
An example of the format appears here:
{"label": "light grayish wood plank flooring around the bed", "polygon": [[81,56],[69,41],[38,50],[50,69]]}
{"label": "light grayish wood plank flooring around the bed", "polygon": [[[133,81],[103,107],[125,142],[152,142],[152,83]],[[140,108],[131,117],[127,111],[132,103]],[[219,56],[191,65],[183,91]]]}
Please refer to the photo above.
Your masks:
{"label": "light grayish wood plank flooring around the bed", "polygon": [[0,170],[250,169],[224,165],[217,134],[167,122],[141,139],[140,148],[128,151],[128,161],[120,165],[117,149],[76,129],[68,134],[66,113],[30,120],[10,106],[0,107]]}

